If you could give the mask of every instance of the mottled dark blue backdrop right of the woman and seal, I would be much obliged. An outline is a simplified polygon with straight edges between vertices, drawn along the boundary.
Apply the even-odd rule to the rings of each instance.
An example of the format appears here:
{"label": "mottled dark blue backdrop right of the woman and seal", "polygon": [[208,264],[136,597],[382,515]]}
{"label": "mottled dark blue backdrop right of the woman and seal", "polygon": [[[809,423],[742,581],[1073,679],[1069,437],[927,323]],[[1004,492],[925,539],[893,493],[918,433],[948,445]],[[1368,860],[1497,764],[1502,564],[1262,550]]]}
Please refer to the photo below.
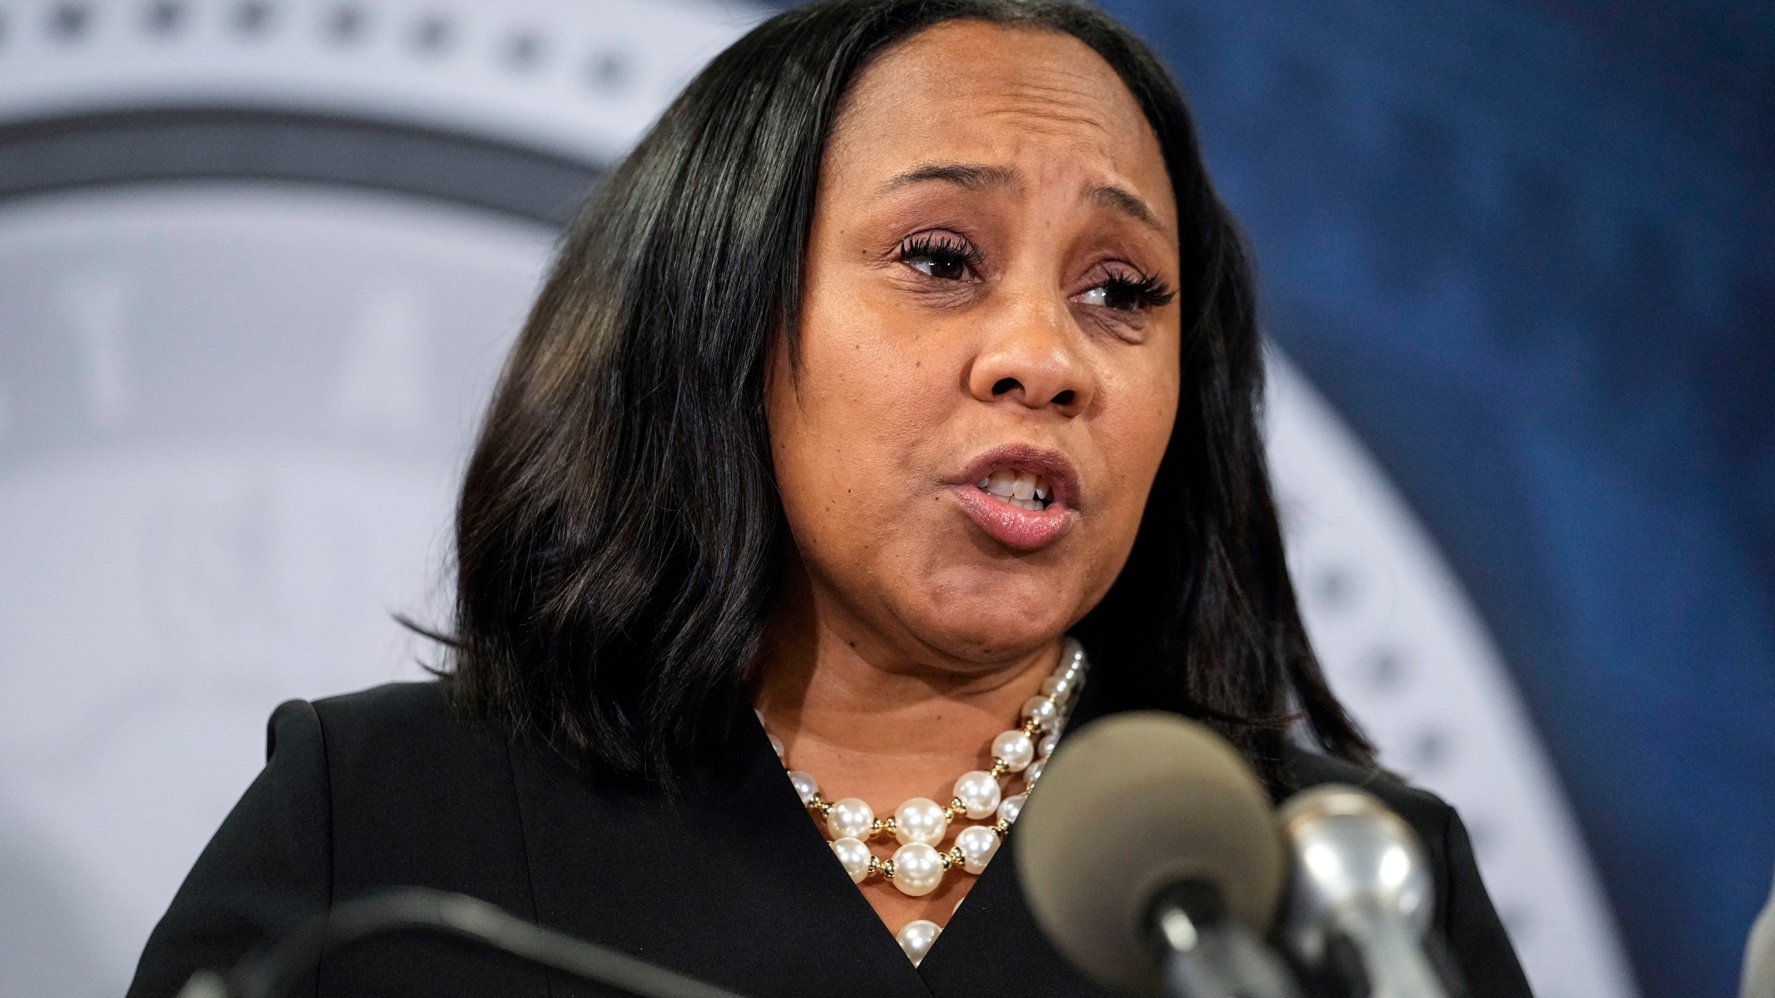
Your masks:
{"label": "mottled dark blue backdrop right of the woman and seal", "polygon": [[1111,0],[1482,607],[1647,996],[1775,861],[1775,9]]}

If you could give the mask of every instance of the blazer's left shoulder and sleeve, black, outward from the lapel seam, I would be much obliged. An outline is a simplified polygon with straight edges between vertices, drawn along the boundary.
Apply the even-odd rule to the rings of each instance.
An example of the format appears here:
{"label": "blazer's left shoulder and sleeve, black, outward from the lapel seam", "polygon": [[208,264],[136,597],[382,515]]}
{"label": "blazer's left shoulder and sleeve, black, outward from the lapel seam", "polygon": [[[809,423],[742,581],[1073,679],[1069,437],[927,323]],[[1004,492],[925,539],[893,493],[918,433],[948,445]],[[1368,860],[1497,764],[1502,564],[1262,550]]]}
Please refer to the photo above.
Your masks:
{"label": "blazer's left shoulder and sleeve, black, outward from the lapel seam", "polygon": [[[390,886],[428,886],[536,918],[511,739],[458,716],[437,682],[291,700],[266,765],[154,929],[130,998],[170,998],[304,918]],[[540,994],[541,971],[431,938],[330,954],[298,991]]]}

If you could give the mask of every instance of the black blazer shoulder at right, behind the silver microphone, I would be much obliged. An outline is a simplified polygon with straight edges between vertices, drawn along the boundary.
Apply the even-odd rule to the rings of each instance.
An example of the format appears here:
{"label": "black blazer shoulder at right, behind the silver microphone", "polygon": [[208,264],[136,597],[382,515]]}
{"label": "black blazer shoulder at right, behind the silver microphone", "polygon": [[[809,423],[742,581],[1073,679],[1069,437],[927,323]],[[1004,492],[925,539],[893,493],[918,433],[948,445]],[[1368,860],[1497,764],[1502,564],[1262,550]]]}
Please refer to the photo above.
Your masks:
{"label": "black blazer shoulder at right, behind the silver microphone", "polygon": [[1468,998],[1530,998],[1516,948],[1479,875],[1473,844],[1447,801],[1379,769],[1290,749],[1283,760],[1294,790],[1345,783],[1367,790],[1418,833],[1436,874],[1436,939]]}

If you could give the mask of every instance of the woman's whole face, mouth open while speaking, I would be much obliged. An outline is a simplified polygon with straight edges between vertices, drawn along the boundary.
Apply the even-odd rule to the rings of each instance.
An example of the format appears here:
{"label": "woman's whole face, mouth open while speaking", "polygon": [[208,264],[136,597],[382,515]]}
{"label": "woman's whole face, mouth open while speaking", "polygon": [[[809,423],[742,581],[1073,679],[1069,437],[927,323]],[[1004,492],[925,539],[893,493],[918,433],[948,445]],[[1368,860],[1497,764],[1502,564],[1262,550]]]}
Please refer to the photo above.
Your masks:
{"label": "woman's whole face, mouth open while speaking", "polygon": [[1177,284],[1159,142],[1088,46],[951,21],[861,73],[767,385],[822,622],[953,668],[1085,616],[1172,432]]}

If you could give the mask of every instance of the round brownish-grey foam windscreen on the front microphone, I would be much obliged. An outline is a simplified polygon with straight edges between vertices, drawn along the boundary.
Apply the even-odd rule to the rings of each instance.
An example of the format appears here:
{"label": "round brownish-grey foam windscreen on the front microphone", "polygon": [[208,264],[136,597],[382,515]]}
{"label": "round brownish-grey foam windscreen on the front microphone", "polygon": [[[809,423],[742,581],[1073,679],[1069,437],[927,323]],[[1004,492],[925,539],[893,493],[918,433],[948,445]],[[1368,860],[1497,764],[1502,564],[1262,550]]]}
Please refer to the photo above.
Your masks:
{"label": "round brownish-grey foam windscreen on the front microphone", "polygon": [[1086,973],[1159,991],[1156,897],[1207,881],[1262,938],[1285,859],[1269,797],[1225,739],[1175,714],[1104,717],[1060,744],[1017,817],[1017,877],[1054,948]]}

